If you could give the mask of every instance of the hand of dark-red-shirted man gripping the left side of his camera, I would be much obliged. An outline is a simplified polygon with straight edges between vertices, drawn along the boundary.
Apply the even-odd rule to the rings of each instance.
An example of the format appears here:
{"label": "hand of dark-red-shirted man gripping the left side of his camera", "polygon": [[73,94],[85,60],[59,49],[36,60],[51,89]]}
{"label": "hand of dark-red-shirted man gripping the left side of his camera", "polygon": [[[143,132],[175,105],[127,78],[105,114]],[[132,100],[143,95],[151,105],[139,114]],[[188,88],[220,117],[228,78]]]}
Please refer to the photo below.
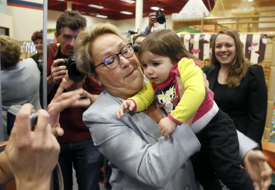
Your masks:
{"label": "hand of dark-red-shirted man gripping the left side of his camera", "polygon": [[54,84],[59,84],[62,78],[64,78],[64,76],[66,75],[66,66],[57,66],[59,63],[62,63],[63,61],[64,59],[57,59],[54,60],[54,62],[52,63],[50,77],[52,77]]}

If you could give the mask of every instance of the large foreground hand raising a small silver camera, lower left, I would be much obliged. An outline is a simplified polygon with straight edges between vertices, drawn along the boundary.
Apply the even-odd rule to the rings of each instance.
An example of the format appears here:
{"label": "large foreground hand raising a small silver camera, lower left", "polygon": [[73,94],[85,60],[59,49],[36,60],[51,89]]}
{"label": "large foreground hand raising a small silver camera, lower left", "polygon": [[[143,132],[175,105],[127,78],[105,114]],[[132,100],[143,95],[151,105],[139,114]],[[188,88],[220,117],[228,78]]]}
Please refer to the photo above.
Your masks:
{"label": "large foreground hand raising a small silver camera, lower left", "polygon": [[38,110],[36,128],[31,131],[30,114],[34,107],[24,104],[15,118],[5,149],[17,190],[49,189],[60,146],[48,124],[46,110]]}

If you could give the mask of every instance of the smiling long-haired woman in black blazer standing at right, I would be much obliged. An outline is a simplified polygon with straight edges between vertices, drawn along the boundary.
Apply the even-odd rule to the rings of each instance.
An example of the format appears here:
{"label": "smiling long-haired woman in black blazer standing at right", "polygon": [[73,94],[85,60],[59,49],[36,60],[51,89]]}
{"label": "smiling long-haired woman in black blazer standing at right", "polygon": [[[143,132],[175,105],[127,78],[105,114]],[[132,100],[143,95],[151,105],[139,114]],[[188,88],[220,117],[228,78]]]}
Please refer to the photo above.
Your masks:
{"label": "smiling long-haired woman in black blazer standing at right", "polygon": [[266,122],[267,88],[262,66],[249,64],[237,31],[217,33],[211,65],[203,67],[218,107],[233,119],[237,130],[260,145]]}

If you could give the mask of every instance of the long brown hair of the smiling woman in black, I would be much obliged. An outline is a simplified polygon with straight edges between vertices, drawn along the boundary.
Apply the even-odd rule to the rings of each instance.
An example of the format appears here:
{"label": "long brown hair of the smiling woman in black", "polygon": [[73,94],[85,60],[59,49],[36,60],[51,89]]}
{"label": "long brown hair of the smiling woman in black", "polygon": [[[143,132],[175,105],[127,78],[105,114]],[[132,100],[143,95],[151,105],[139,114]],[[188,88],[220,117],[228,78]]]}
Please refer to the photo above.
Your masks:
{"label": "long brown hair of the smiling woman in black", "polygon": [[242,78],[245,77],[247,70],[251,66],[249,63],[247,63],[245,61],[245,57],[243,55],[243,44],[241,43],[239,34],[236,30],[223,29],[223,30],[219,31],[213,41],[213,44],[212,44],[211,65],[214,67],[221,67],[220,62],[217,60],[217,58],[215,56],[215,43],[216,43],[217,36],[219,34],[229,35],[235,41],[235,47],[236,47],[235,58],[234,58],[233,62],[231,63],[231,66],[228,70],[226,84],[229,87],[239,86],[241,84]]}

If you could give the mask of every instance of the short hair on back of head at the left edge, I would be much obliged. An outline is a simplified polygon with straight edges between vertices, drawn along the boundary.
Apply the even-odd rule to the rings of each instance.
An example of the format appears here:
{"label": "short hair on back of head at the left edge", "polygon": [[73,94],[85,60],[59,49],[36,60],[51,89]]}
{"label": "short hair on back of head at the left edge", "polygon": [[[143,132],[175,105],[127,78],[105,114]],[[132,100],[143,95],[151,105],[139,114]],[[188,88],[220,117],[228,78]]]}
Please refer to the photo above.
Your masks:
{"label": "short hair on back of head at the left edge", "polygon": [[1,66],[9,68],[19,62],[21,48],[19,41],[6,36],[0,35],[0,57]]}

